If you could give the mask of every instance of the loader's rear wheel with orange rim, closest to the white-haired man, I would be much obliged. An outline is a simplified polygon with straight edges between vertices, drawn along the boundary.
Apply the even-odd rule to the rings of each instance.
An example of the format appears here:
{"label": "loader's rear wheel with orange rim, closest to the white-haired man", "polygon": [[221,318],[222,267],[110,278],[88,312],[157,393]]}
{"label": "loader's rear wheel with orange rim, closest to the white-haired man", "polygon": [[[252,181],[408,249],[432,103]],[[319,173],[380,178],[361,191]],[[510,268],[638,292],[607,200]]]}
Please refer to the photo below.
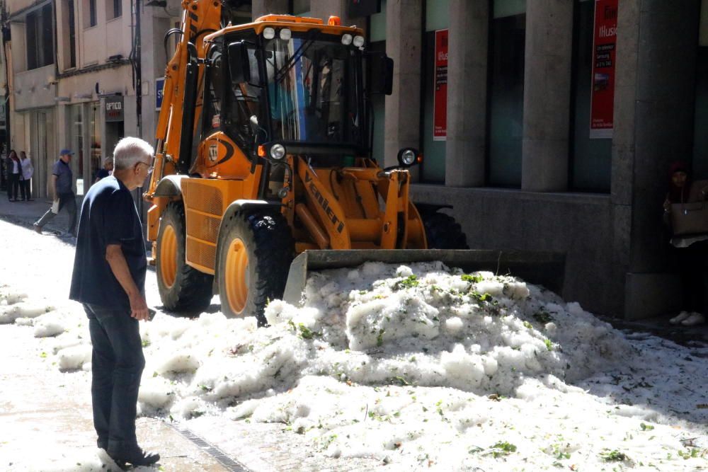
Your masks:
{"label": "loader's rear wheel with orange rim, closest to the white-haired man", "polygon": [[157,288],[165,309],[198,313],[210,304],[214,277],[186,263],[185,240],[184,205],[170,202],[157,234]]}

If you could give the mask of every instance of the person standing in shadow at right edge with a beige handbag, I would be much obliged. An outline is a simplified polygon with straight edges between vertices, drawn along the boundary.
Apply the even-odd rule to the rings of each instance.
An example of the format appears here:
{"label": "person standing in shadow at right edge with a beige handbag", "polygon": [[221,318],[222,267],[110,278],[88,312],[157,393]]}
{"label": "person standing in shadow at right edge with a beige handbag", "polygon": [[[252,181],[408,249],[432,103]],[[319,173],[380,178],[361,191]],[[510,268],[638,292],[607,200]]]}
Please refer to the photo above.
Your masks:
{"label": "person standing in shadow at right edge with a beige handbag", "polygon": [[[664,200],[664,223],[670,224],[671,205],[697,202],[706,182],[692,182],[688,166],[675,162],[670,167],[669,191]],[[673,235],[669,241],[681,276],[681,311],[670,323],[694,326],[705,323],[708,295],[708,234]]]}

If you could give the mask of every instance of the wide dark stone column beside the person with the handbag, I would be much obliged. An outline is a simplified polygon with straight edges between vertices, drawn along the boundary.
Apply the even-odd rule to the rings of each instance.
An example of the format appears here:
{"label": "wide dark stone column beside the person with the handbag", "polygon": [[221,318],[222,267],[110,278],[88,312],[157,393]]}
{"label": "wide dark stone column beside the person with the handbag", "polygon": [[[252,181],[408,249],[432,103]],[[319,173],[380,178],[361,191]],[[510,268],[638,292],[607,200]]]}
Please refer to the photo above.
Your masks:
{"label": "wide dark stone column beside the person with the handbag", "polygon": [[671,2],[619,2],[613,256],[628,319],[667,313],[680,298],[658,213],[670,162],[690,161],[692,155],[699,8],[699,0],[686,0],[681,8]]}

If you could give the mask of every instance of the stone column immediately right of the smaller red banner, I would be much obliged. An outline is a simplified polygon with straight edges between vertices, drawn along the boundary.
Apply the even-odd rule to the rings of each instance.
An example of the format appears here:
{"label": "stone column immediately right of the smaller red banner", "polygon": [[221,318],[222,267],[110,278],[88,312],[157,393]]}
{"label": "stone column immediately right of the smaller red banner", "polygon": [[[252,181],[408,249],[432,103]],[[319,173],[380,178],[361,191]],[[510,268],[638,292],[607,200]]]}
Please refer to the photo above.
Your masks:
{"label": "stone column immediately right of the smaller red banner", "polygon": [[445,185],[484,185],[489,3],[450,0]]}

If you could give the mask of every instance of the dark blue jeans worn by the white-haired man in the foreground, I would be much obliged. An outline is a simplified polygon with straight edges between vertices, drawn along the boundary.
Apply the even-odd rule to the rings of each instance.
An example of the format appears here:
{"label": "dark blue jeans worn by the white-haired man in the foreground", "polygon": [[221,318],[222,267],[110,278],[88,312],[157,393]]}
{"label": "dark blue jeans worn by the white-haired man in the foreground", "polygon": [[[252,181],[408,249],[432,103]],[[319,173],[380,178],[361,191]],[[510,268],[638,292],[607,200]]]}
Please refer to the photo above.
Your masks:
{"label": "dark blue jeans worn by the white-haired man in the foreground", "polygon": [[93,344],[91,401],[99,447],[111,454],[137,447],[135,416],[145,367],[138,321],[130,311],[84,304]]}

